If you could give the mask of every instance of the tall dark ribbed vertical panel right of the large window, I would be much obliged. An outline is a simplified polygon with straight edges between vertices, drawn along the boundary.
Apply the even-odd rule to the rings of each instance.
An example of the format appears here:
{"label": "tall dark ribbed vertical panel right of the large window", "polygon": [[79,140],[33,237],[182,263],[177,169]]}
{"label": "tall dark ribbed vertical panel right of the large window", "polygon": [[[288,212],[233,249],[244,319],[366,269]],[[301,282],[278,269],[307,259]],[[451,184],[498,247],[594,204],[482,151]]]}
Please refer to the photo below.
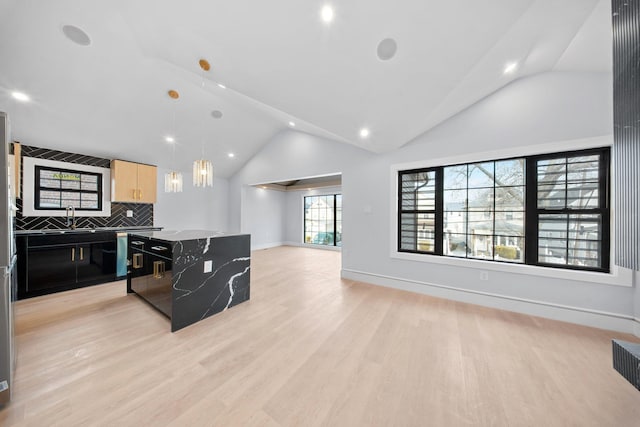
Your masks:
{"label": "tall dark ribbed vertical panel right of the large window", "polygon": [[640,270],[640,1],[612,0],[616,265]]}

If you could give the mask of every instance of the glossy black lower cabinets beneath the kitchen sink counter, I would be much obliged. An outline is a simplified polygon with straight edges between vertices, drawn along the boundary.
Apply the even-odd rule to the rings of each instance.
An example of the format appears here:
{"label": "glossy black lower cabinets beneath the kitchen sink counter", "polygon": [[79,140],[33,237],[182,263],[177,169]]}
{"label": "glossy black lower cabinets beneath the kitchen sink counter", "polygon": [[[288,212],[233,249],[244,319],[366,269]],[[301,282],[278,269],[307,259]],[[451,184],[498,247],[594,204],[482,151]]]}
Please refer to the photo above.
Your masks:
{"label": "glossy black lower cabinets beneath the kitchen sink counter", "polygon": [[18,299],[116,279],[115,233],[22,236]]}

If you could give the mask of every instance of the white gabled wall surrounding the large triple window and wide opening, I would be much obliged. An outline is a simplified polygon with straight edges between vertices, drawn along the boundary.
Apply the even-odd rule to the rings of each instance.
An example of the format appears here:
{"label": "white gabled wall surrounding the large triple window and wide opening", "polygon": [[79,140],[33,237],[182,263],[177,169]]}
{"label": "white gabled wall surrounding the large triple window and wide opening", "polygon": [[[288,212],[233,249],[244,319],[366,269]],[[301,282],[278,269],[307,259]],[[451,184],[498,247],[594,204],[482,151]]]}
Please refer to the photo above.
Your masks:
{"label": "white gabled wall surrounding the large triple window and wide opening", "polygon": [[[583,138],[602,137],[607,143],[612,104],[610,74],[553,72],[517,80],[390,153],[374,155],[285,132],[230,180],[231,222],[243,211],[236,195],[246,184],[342,172],[344,277],[630,332],[640,298],[630,274],[618,286],[606,284],[616,278],[601,280],[598,273],[531,266],[500,271],[492,268],[495,263],[481,261],[451,265],[443,257],[391,256],[393,165],[452,156],[475,160],[482,153],[490,157],[492,151],[527,151],[535,145],[560,151],[571,145],[567,141]],[[489,280],[480,280],[479,269]]]}

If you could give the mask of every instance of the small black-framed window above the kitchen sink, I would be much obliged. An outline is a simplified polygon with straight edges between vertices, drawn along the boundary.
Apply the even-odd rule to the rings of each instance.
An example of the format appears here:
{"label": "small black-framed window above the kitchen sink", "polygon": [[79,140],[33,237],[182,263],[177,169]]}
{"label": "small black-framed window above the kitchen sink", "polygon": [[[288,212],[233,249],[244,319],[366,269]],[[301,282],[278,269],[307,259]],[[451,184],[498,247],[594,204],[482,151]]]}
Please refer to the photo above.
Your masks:
{"label": "small black-framed window above the kitchen sink", "polygon": [[35,167],[35,209],[102,210],[102,174],[69,169]]}

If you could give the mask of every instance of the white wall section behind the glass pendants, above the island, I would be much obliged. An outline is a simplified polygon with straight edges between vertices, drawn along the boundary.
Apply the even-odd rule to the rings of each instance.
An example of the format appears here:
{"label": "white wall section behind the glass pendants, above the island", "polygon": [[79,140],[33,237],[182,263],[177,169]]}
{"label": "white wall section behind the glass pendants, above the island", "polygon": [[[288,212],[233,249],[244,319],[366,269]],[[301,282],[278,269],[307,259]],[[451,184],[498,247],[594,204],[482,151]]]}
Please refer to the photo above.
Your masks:
{"label": "white wall section behind the glass pendants, above the island", "polygon": [[213,187],[196,188],[191,174],[183,173],[181,193],[164,192],[164,174],[158,168],[158,202],[153,210],[153,222],[165,230],[229,230],[229,182],[214,178]]}

